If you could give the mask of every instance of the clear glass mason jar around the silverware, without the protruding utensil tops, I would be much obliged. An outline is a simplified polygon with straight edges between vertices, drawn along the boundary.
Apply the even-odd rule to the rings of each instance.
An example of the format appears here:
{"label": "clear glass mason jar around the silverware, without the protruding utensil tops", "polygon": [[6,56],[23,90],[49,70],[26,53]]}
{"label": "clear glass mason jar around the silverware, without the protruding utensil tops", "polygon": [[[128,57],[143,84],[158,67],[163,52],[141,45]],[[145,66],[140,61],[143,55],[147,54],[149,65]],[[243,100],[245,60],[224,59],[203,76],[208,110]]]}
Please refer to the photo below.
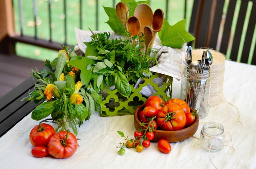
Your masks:
{"label": "clear glass mason jar around the silverware, without the protruding utensil tops", "polygon": [[203,74],[195,74],[187,69],[184,70],[184,76],[181,80],[181,99],[185,100],[189,107],[197,110],[199,119],[208,114],[210,88],[210,70]]}

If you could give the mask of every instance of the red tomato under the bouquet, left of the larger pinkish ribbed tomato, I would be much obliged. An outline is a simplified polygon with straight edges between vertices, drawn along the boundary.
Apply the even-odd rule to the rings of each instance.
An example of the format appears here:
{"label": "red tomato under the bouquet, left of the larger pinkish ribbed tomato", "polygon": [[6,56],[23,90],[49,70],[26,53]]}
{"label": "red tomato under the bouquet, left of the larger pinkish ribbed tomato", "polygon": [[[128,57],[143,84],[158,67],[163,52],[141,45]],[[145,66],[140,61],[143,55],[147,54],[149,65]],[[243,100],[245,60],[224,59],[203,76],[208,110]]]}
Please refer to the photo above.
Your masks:
{"label": "red tomato under the bouquet, left of the larger pinkish ribbed tomato", "polygon": [[41,123],[36,125],[29,134],[29,140],[34,147],[47,146],[49,139],[55,134],[54,128],[50,124]]}

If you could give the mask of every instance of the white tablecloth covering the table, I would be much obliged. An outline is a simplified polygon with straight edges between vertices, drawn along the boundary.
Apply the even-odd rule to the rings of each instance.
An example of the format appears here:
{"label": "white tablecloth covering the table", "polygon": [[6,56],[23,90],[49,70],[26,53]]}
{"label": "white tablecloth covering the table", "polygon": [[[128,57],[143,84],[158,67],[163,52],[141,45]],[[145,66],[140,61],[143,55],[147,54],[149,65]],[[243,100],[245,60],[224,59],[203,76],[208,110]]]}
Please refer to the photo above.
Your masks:
{"label": "white tablecloth covering the table", "polygon": [[[123,131],[128,138],[133,137],[135,127],[133,115],[100,117],[95,112],[91,119],[79,129],[79,147],[75,154],[67,159],[53,157],[35,158],[31,155],[33,146],[29,141],[30,130],[38,124],[30,114],[16,124],[0,138],[0,168],[88,168],[88,169],[131,169],[131,168],[218,168],[218,169],[255,169],[256,167],[256,66],[233,61],[225,63],[225,80],[221,103],[210,107],[209,114],[200,120],[194,137],[200,137],[205,122],[218,122],[226,133],[222,150],[210,153],[197,147],[194,137],[183,142],[170,143],[172,151],[161,153],[157,143],[137,153],[135,149],[126,149],[125,155],[119,155],[117,148],[120,137],[117,130]],[[173,81],[173,98],[180,97],[180,82]],[[240,117],[239,117],[240,115]],[[241,123],[238,122],[240,120]],[[231,135],[231,138],[229,134]],[[232,146],[232,151],[229,146]],[[215,165],[215,167],[214,167]]]}

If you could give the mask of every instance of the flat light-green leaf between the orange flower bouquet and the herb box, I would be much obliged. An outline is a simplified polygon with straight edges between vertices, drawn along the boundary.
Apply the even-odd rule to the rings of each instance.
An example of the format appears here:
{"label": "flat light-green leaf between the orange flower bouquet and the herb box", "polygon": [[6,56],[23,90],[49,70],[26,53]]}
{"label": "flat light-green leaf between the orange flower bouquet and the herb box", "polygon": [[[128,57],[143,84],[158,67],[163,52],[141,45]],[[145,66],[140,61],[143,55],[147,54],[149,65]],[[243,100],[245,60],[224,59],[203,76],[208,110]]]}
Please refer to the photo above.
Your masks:
{"label": "flat light-green leaf between the orange flower bouquet and the herb box", "polygon": [[69,65],[72,65],[81,70],[80,78],[82,85],[86,85],[90,82],[91,78],[94,77],[93,72],[91,70],[87,70],[86,67],[89,64],[95,64],[96,62],[90,58],[80,57],[78,59],[73,59],[68,62]]}

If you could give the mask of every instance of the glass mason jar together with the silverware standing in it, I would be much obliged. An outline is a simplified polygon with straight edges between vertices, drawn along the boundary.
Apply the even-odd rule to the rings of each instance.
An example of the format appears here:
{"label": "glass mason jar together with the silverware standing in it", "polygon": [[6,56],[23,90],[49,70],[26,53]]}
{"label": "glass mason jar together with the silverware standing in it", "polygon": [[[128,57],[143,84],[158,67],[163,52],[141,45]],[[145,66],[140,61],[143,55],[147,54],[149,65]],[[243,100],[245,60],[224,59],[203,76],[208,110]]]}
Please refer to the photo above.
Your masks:
{"label": "glass mason jar together with the silverware standing in it", "polygon": [[202,119],[209,111],[212,55],[206,50],[203,51],[201,60],[192,61],[192,48],[189,46],[184,64],[186,68],[181,81],[181,99],[197,110],[199,119]]}

